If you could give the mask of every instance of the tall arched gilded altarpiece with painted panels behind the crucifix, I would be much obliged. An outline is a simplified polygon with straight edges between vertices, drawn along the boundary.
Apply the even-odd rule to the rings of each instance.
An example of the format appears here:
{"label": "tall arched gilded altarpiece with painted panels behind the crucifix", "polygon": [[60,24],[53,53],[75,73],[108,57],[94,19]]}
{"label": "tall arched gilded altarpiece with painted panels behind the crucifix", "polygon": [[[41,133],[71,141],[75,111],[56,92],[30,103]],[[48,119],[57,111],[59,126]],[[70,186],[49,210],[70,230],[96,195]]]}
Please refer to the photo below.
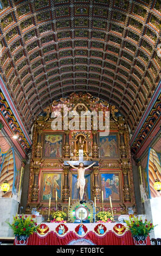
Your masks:
{"label": "tall arched gilded altarpiece with painted panels behind the crucifix", "polygon": [[[68,126],[72,118],[66,113],[74,111],[108,111],[109,134],[99,130],[99,127],[95,129],[92,115],[91,129],[87,129],[85,118],[84,130],[80,128],[80,123],[79,126],[74,126],[76,124],[73,123],[72,130]],[[60,123],[57,122],[57,129],[52,126],[53,120],[56,120],[53,113],[59,113]],[[79,115],[76,120],[79,121],[80,118]],[[83,199],[95,200],[96,212],[101,211],[102,207],[111,211],[110,197],[114,215],[127,214],[130,208],[136,212],[129,141],[126,120],[119,114],[119,109],[108,102],[94,98],[88,93],[73,93],[69,97],[53,101],[34,124],[26,213],[30,214],[31,210],[36,208],[41,215],[48,215],[49,198],[50,214],[56,211],[56,198],[57,209],[65,212],[68,212],[69,200],[70,204],[79,200],[76,187],[77,172],[67,164],[68,161],[79,163],[79,149],[83,150],[85,165],[96,162],[85,172]]]}

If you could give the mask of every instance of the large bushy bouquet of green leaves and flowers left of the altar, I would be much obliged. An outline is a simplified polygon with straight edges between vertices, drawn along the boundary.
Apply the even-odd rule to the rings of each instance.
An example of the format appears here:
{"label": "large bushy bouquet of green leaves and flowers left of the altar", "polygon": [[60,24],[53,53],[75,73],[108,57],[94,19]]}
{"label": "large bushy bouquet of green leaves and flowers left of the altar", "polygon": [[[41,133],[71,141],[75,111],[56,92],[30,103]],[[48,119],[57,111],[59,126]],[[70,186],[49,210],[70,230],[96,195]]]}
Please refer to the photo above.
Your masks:
{"label": "large bushy bouquet of green leaves and flowers left of the altar", "polygon": [[15,235],[30,235],[36,232],[37,223],[30,216],[14,216],[12,224],[8,223]]}

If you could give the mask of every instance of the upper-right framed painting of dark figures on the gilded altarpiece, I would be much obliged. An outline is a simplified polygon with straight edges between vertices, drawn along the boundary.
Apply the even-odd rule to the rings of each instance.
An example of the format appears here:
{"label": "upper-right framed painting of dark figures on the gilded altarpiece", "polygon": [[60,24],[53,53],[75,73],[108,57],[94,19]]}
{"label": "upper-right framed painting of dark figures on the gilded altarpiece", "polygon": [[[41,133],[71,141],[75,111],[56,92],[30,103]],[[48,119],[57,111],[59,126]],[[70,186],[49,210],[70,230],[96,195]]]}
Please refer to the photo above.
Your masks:
{"label": "upper-right framed painting of dark figures on the gilded altarpiece", "polygon": [[117,135],[106,136],[104,132],[99,133],[100,157],[118,157]]}

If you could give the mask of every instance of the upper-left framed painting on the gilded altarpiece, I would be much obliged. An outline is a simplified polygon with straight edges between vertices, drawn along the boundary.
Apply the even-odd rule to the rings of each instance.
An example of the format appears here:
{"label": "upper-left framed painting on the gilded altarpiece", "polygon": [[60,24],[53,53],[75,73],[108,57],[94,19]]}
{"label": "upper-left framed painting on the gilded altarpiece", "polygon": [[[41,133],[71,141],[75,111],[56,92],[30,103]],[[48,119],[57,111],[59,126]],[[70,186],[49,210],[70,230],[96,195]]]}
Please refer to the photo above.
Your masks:
{"label": "upper-left framed painting on the gilded altarpiece", "polygon": [[44,135],[43,157],[59,158],[62,157],[63,133]]}

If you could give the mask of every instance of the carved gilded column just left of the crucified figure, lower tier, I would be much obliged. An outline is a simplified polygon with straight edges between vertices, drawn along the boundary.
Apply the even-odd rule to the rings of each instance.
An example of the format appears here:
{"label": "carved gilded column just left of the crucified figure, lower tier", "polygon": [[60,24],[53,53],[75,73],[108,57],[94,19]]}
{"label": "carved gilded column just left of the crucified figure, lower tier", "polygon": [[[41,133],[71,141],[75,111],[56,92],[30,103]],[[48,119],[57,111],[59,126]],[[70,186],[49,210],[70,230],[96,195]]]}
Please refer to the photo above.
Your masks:
{"label": "carved gilded column just left of the crucified figure, lower tier", "polygon": [[63,184],[63,190],[62,190],[62,200],[64,202],[68,202],[69,200],[69,168],[70,166],[64,166],[63,167],[63,174],[64,174],[64,184]]}

